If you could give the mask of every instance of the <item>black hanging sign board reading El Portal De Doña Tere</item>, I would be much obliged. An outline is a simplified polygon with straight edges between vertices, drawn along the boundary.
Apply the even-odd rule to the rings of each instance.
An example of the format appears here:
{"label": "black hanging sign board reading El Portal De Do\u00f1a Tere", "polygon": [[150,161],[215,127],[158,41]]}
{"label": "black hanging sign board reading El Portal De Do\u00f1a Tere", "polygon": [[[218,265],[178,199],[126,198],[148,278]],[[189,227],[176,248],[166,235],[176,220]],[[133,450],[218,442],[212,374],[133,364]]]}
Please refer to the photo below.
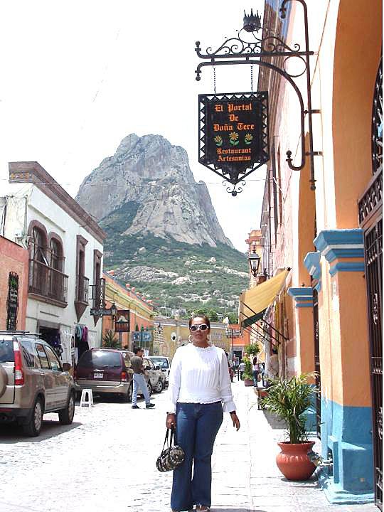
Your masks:
{"label": "black hanging sign board reading El Portal De Do\u00f1a Tere", "polygon": [[[235,186],[269,159],[268,93],[199,95],[198,161]],[[243,183],[242,183],[243,184]]]}

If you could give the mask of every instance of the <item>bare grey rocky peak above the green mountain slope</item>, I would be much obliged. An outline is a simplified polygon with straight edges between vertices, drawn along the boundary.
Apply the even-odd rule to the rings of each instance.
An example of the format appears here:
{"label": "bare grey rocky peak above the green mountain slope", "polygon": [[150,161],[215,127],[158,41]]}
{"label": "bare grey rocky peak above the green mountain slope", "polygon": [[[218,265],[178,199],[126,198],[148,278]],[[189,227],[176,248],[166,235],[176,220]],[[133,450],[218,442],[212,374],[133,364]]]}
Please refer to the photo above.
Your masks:
{"label": "bare grey rocky peak above the green mountain slope", "polygon": [[113,156],[85,178],[76,197],[97,220],[129,205],[124,235],[154,235],[191,245],[232,247],[203,181],[196,183],[181,146],[161,135],[122,139]]}

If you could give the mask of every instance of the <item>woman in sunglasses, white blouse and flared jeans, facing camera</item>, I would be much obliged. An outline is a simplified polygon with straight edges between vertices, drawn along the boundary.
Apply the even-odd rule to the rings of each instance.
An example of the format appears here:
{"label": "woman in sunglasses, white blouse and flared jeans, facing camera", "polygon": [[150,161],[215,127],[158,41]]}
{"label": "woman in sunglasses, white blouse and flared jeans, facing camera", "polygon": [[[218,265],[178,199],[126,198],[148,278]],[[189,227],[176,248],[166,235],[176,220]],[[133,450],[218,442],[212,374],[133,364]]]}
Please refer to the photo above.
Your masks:
{"label": "woman in sunglasses, white blouse and flared jeans, facing camera", "polygon": [[[222,348],[210,346],[210,321],[196,315],[189,321],[189,341],[177,349],[169,374],[169,412],[166,427],[176,428],[176,440],[186,459],[174,470],[173,512],[207,512],[210,508],[210,458],[223,422],[223,408],[239,430],[228,361]],[[221,405],[223,402],[223,406]],[[192,471],[193,463],[193,471]]]}

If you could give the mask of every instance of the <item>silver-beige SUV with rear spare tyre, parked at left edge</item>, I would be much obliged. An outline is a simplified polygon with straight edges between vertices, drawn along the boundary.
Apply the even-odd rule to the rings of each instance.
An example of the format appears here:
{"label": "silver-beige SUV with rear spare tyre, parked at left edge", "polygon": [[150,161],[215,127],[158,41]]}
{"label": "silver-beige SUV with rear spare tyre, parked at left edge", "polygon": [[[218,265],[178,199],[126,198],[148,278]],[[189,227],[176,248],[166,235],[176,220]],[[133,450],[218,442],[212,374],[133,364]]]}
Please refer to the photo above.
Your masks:
{"label": "silver-beige SUV with rear spare tyre, parked at left edge", "polygon": [[38,436],[45,412],[62,425],[75,414],[75,385],[53,349],[36,335],[0,331],[0,423],[17,422]]}

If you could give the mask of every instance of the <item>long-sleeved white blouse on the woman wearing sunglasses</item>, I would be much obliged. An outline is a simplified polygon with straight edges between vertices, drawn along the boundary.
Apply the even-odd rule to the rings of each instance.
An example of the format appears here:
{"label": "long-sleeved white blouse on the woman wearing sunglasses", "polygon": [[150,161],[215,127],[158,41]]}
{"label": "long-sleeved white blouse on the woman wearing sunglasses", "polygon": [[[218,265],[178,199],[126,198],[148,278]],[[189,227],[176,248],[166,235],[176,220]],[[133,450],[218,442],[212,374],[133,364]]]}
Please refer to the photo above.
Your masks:
{"label": "long-sleeved white blouse on the woman wearing sunglasses", "polygon": [[177,402],[223,402],[223,410],[236,409],[230,386],[228,360],[223,348],[201,348],[188,343],[176,350],[169,373],[169,408]]}

